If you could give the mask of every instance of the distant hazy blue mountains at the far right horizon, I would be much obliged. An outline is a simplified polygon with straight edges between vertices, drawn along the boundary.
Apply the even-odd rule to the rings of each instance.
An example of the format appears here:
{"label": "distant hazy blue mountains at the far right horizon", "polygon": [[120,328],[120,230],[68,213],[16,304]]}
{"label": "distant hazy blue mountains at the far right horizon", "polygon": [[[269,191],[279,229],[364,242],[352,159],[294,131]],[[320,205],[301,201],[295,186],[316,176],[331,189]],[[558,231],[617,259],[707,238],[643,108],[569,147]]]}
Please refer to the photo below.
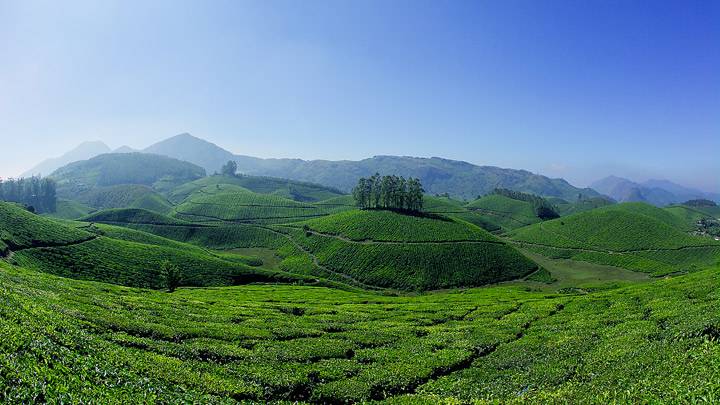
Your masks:
{"label": "distant hazy blue mountains at the far right horizon", "polygon": [[608,176],[590,184],[590,188],[614,198],[618,202],[647,202],[659,207],[696,198],[720,201],[720,194],[706,193],[675,184],[668,180],[648,180],[636,183],[631,180]]}

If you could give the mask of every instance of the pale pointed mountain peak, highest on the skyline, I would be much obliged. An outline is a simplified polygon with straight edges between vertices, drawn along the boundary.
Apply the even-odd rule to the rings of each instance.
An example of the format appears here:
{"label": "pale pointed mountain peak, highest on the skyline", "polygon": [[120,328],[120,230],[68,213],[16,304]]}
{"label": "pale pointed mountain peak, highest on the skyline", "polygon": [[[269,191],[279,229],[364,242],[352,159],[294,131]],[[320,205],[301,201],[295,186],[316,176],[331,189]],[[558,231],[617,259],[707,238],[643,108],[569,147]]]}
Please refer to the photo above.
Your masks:
{"label": "pale pointed mountain peak, highest on the skyline", "polygon": [[169,156],[194,163],[208,173],[219,172],[222,165],[235,156],[225,149],[204,139],[184,133],[148,146],[143,153]]}

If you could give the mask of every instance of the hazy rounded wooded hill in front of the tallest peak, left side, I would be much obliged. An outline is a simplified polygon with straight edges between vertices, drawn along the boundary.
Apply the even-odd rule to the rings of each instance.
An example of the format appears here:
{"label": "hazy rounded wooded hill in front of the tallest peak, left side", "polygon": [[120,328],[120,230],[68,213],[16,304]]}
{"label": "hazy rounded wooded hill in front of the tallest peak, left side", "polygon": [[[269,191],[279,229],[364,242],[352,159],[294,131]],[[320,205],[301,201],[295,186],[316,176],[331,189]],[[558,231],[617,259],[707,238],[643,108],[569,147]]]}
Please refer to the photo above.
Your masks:
{"label": "hazy rounded wooded hill in front of the tallest peak, left side", "polygon": [[205,176],[192,163],[143,153],[108,153],[63,166],[52,174],[62,192],[79,193],[94,187],[140,184],[164,191]]}

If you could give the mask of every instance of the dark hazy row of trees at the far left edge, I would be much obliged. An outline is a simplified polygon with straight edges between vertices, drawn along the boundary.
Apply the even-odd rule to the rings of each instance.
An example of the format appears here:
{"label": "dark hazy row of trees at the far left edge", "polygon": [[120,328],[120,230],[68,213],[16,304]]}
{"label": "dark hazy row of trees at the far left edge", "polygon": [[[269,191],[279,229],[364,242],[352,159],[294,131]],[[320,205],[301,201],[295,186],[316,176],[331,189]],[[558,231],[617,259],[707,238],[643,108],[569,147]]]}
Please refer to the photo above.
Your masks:
{"label": "dark hazy row of trees at the far left edge", "polygon": [[55,212],[55,181],[40,176],[0,179],[0,200],[24,204],[35,212]]}

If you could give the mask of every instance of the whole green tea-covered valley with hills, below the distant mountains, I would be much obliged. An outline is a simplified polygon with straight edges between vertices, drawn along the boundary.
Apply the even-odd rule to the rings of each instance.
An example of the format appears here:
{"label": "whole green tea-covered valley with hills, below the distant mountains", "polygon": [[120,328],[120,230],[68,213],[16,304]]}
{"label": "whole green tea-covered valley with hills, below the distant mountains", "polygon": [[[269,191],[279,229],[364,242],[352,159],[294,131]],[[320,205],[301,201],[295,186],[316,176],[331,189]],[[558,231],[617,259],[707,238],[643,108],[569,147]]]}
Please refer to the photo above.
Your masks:
{"label": "whole green tea-covered valley with hills, below the distant mountains", "polygon": [[720,400],[716,207],[360,209],[135,155],[58,170],[54,212],[0,201],[0,402]]}

